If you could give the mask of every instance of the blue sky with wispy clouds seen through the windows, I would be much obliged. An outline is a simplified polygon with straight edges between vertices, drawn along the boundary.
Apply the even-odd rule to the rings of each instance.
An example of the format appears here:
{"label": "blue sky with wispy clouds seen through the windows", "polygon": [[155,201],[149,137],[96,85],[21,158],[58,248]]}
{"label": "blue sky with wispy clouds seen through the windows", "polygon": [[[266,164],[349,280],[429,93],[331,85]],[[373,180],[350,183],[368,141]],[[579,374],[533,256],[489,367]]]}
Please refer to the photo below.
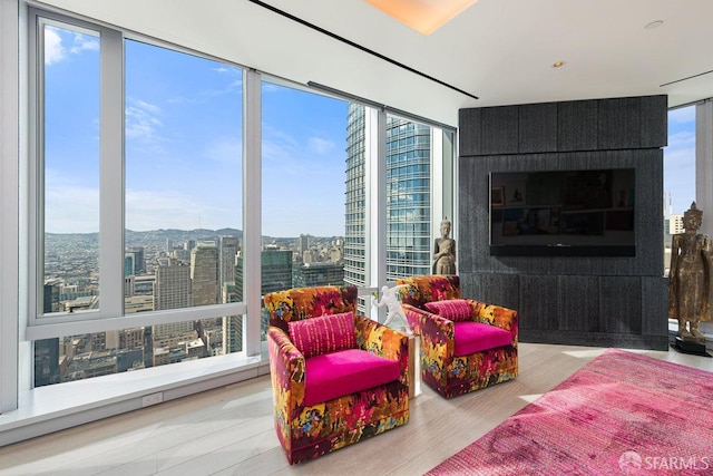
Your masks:
{"label": "blue sky with wispy clouds seen through the windows", "polygon": [[[46,231],[98,229],[99,39],[46,29]],[[126,42],[126,226],[242,229],[240,68]],[[263,85],[263,234],[344,233],[344,101]],[[694,200],[695,108],[668,115],[664,193]]]}

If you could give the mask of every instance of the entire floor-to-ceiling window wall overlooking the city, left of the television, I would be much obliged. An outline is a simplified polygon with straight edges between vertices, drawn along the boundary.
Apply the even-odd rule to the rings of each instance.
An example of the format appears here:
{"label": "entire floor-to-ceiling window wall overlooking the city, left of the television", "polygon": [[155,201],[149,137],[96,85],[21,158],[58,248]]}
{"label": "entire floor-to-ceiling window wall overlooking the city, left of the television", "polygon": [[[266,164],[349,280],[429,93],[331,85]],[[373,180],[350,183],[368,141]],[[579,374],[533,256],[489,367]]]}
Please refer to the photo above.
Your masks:
{"label": "entire floor-to-ceiling window wall overlooking the city, left of the television", "polygon": [[[28,84],[20,88],[27,96],[18,103],[28,104],[29,126],[17,122],[27,150],[14,175],[23,197],[22,243],[7,256],[19,262],[21,282],[19,293],[2,293],[19,309],[22,378],[17,383],[4,372],[3,394],[244,353],[245,336],[255,336],[244,326],[256,329],[260,317],[246,314],[252,304],[243,285],[350,283],[349,237],[362,256],[352,270],[355,284],[390,280],[385,272],[364,274],[363,261],[375,255],[373,240],[385,249],[388,233],[367,223],[390,213],[385,194],[374,197],[388,184],[385,173],[375,173],[387,166],[383,110],[270,78],[255,94],[245,88],[246,76],[260,72],[116,28],[28,11],[29,41],[20,41],[29,45]],[[246,98],[258,95],[262,107],[251,109]],[[369,120],[356,120],[359,107]],[[262,154],[253,156],[243,144],[248,111],[262,122]],[[433,150],[447,147],[434,143],[433,126],[423,127],[431,164],[420,172],[428,177],[418,201],[441,216],[434,196],[452,191],[436,177],[442,164],[452,169],[455,133],[448,133],[450,155],[434,167]],[[255,164],[263,193],[250,195],[244,177]],[[8,184],[12,188],[3,176]],[[413,197],[394,204],[403,200]],[[245,216],[255,210],[263,245],[247,258],[262,255],[260,273],[243,268],[243,229],[253,223]],[[432,222],[427,242],[436,236]],[[17,343],[16,336],[3,334],[2,342]]]}

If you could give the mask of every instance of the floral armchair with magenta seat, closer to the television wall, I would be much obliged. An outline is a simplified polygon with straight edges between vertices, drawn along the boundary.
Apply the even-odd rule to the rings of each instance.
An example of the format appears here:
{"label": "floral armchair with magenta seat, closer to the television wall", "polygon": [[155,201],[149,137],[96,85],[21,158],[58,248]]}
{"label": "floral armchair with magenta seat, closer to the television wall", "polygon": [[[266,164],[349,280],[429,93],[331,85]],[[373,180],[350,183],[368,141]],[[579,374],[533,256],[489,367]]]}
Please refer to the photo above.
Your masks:
{"label": "floral armchair with magenta seat, closer to the television wall", "polygon": [[[461,299],[457,275],[397,280],[421,338],[422,380],[446,398],[517,377],[517,311]],[[430,309],[429,309],[430,308]]]}

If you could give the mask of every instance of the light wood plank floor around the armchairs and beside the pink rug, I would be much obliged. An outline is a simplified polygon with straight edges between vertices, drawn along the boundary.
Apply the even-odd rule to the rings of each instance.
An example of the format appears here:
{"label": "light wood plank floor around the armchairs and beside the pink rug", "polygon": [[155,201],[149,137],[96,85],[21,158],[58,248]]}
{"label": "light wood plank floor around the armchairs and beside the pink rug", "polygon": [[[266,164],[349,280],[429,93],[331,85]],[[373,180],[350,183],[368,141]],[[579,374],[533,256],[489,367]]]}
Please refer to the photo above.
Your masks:
{"label": "light wood plank floor around the armchairs and beside the pink rug", "polygon": [[[0,474],[420,475],[603,350],[521,343],[516,380],[451,400],[423,386],[408,425],[292,467],[273,428],[270,379],[261,377],[6,446]],[[636,352],[713,371],[704,357]]]}

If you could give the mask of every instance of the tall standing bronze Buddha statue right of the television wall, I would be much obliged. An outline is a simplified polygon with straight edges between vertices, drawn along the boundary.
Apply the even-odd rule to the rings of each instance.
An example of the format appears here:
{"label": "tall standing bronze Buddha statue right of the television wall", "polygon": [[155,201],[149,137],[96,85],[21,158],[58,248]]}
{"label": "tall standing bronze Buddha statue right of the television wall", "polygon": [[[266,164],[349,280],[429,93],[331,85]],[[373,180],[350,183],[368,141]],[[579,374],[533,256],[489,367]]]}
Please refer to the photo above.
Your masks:
{"label": "tall standing bronze Buddha statue right of the television wall", "polygon": [[[711,241],[697,233],[703,212],[695,202],[683,214],[684,233],[673,236],[668,273],[668,318],[678,320],[683,340],[705,342],[700,321],[710,320]],[[687,327],[686,327],[687,324]]]}

